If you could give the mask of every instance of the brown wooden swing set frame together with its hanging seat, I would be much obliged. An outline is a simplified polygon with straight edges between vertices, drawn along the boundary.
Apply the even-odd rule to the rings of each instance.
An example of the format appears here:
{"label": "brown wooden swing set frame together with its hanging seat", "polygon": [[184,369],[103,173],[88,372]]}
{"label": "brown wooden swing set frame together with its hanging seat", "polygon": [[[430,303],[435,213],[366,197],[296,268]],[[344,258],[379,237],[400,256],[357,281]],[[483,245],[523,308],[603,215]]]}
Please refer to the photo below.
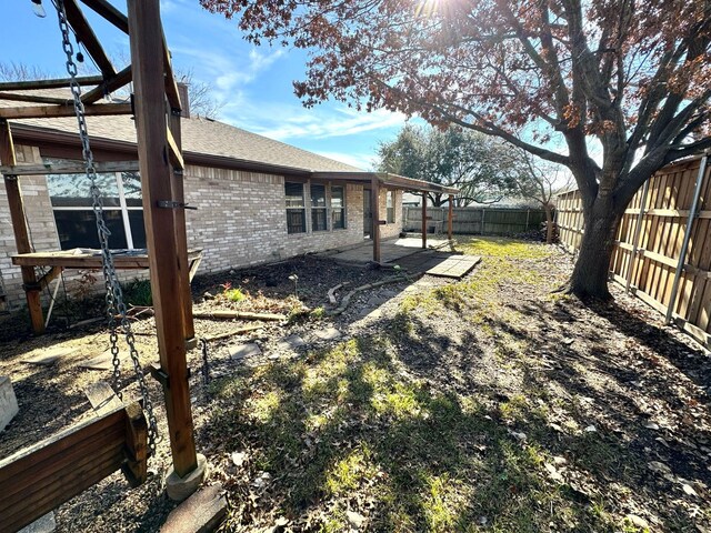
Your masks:
{"label": "brown wooden swing set frame together with its hanging seat", "polygon": [[[131,66],[117,72],[83,14],[80,2],[128,33]],[[187,477],[198,467],[186,352],[194,336],[182,183],[181,102],[160,20],[160,0],[128,0],[128,16],[108,0],[64,0],[67,19],[101,71],[80,78],[96,86],[82,95],[87,114],[133,114],[138,139],[143,215],[160,366],[152,372],[164,393],[173,470]],[[28,2],[29,3],[29,2]],[[28,6],[29,7],[29,6]],[[133,105],[98,103],[133,83]],[[68,88],[69,79],[0,83],[0,99],[31,102],[0,108],[0,172],[19,254],[32,252],[22,202],[10,120],[73,117],[71,102],[28,91]],[[91,131],[89,132],[91,133]],[[48,170],[46,173],[49,173]],[[39,173],[39,172],[36,172]],[[28,309],[37,333],[43,331],[42,281],[33,265],[21,266]],[[90,400],[91,420],[0,461],[0,532],[16,531],[81,493],[119,467],[133,485],[146,480],[146,419],[139,404],[123,405],[111,394]],[[107,409],[108,403],[111,409]]]}

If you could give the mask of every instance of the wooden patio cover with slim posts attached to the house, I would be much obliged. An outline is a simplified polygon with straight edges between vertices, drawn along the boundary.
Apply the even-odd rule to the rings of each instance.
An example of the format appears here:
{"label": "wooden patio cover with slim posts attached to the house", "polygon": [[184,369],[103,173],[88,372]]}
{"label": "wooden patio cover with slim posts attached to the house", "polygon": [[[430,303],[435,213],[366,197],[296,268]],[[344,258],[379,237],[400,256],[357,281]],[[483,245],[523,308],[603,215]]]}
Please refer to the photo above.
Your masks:
{"label": "wooden patio cover with slim posts attached to the house", "polygon": [[389,172],[313,172],[311,174],[316,179],[338,179],[353,183],[362,183],[370,187],[371,210],[372,210],[372,240],[373,240],[373,261],[380,262],[380,227],[387,223],[380,217],[380,190],[382,188],[400,189],[415,194],[422,194],[422,249],[427,249],[427,221],[431,217],[427,214],[428,193],[439,193],[449,195],[449,210],[447,215],[447,238],[452,240],[452,220],[454,195],[459,194],[459,189],[453,187],[440,185],[439,183],[430,183],[422,180],[413,180],[404,175],[391,174]]}

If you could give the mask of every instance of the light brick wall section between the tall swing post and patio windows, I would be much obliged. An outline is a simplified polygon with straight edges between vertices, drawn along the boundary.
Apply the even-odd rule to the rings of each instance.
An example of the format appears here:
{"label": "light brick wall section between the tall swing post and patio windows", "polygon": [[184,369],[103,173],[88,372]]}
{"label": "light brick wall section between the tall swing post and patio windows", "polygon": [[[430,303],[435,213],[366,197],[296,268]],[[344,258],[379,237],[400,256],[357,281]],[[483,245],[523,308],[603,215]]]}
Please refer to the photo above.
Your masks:
{"label": "light brick wall section between the tall swing post and patio windows", "polygon": [[[307,205],[309,187],[304,185]],[[284,178],[233,170],[188,167],[188,247],[202,248],[201,272],[260,264],[363,240],[363,188],[346,188],[346,229],[287,233]]]}

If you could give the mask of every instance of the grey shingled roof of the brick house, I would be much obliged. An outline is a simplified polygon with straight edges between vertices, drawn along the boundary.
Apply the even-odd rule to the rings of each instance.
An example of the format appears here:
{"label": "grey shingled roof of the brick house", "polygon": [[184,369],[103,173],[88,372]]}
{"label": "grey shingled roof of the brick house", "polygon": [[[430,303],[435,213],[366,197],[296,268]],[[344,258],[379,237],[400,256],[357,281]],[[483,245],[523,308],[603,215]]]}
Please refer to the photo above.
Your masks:
{"label": "grey shingled roof of the brick house", "polygon": [[[66,98],[64,89],[14,91]],[[0,108],[37,105],[0,99]],[[42,118],[12,120],[19,141],[42,139],[46,143],[79,145],[77,119]],[[92,145],[118,151],[136,151],[136,123],[130,115],[87,117]],[[318,177],[350,182],[369,182],[373,175],[384,185],[455,194],[457,189],[394,174],[364,172],[284,142],[276,141],[223,122],[202,117],[181,121],[182,150],[187,163],[217,168],[239,168],[288,175]]]}

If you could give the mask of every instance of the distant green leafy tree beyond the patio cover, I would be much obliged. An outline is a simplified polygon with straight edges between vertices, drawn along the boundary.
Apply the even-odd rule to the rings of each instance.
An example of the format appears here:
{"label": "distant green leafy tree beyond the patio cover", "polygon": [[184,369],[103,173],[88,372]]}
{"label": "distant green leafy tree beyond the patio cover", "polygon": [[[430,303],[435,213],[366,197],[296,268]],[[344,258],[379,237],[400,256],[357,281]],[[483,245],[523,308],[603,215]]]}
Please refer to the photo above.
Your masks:
{"label": "distant green leafy tree beyond the patio cover", "polygon": [[[457,205],[495,203],[519,192],[522,167],[511,145],[459,125],[442,131],[408,123],[378,147],[378,155],[381,172],[458,188]],[[429,198],[438,208],[449,201],[442,193]]]}

